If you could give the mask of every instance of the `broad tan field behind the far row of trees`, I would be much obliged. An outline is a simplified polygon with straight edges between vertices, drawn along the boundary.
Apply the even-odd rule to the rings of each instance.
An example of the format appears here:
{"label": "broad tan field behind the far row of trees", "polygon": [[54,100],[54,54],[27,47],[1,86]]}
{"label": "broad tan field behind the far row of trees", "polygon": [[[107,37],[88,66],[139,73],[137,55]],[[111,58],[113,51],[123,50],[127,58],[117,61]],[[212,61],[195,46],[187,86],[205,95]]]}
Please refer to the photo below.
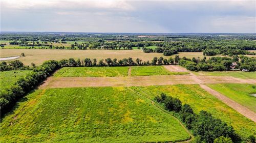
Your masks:
{"label": "broad tan field behind the far row of trees", "polygon": [[[35,63],[36,65],[41,65],[47,60],[61,60],[75,58],[80,60],[85,58],[97,59],[123,59],[123,58],[139,58],[143,61],[152,61],[154,57],[168,59],[170,56],[163,56],[162,53],[144,53],[142,50],[57,50],[57,49],[0,49],[1,58],[17,56],[20,53],[25,53],[25,57],[21,57],[18,60],[22,61],[25,65],[30,65]],[[180,52],[179,54],[182,58],[186,56],[187,58],[200,57],[203,58],[202,52]],[[40,57],[40,58],[38,58]],[[175,55],[172,55],[175,57]],[[209,58],[210,56],[207,56]]]}

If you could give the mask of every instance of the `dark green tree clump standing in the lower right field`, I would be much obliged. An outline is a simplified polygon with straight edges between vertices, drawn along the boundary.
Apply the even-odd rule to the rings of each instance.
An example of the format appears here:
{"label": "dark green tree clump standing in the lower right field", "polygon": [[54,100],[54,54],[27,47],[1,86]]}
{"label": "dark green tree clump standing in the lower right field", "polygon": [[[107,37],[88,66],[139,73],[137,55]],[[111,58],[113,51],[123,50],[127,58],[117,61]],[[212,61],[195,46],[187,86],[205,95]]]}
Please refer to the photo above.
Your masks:
{"label": "dark green tree clump standing in the lower right field", "polygon": [[161,94],[155,97],[155,101],[162,104],[166,110],[178,113],[180,120],[186,125],[196,137],[197,143],[201,142],[218,142],[219,140],[227,140],[226,143],[237,139],[233,127],[228,126],[220,119],[214,118],[207,111],[200,111],[196,114],[188,104],[183,104],[178,98]]}

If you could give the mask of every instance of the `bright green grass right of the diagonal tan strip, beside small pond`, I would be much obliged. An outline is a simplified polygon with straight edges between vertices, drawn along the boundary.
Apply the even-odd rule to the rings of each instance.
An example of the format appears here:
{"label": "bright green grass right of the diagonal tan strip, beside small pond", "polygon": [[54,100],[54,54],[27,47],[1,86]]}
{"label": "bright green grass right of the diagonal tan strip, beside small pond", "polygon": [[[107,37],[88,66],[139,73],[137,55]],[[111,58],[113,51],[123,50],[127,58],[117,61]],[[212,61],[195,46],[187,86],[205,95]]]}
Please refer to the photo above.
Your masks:
{"label": "bright green grass right of the diagonal tan strip, beside small pond", "polygon": [[238,102],[239,104],[256,112],[256,97],[251,94],[256,94],[256,87],[252,84],[208,84],[208,86],[228,98]]}

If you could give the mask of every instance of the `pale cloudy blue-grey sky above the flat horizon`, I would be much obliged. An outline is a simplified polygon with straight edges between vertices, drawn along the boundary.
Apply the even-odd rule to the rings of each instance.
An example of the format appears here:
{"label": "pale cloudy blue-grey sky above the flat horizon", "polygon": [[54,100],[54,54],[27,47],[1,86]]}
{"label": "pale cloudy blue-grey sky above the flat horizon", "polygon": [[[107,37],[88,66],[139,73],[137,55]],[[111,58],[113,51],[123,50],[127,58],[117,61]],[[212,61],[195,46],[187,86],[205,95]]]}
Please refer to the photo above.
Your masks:
{"label": "pale cloudy blue-grey sky above the flat horizon", "polygon": [[2,32],[256,33],[256,1],[1,0]]}

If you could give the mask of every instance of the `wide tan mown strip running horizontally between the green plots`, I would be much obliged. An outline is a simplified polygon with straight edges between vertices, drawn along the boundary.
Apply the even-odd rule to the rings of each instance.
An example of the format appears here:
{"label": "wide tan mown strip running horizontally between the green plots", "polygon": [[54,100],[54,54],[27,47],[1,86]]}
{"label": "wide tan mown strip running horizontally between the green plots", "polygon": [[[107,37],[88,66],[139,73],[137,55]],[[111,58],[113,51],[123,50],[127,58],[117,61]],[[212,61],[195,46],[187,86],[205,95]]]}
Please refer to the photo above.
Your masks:
{"label": "wide tan mown strip running horizontally between the green plots", "polygon": [[39,89],[78,87],[133,87],[173,84],[251,83],[255,79],[230,76],[156,75],[127,77],[49,77]]}

